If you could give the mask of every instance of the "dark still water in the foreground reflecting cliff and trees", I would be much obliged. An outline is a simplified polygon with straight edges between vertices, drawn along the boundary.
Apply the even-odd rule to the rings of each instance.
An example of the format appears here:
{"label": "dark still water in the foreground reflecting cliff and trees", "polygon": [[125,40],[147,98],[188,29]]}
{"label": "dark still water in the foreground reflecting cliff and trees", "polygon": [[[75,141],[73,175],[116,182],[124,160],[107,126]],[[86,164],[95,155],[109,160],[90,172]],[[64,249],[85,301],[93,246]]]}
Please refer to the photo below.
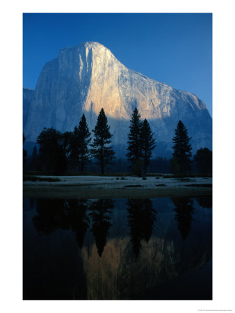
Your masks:
{"label": "dark still water in the foreground reflecting cliff and trees", "polygon": [[211,196],[24,198],[24,299],[212,299]]}

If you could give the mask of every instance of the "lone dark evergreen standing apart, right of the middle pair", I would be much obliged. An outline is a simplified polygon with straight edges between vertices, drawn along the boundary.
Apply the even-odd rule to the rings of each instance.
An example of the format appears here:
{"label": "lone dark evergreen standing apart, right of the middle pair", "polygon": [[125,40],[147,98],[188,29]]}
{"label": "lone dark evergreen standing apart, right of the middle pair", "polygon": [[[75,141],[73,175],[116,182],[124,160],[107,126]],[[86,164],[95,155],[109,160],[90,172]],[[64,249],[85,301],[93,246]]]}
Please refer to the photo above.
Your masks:
{"label": "lone dark evergreen standing apart, right of the middle pair", "polygon": [[191,171],[192,147],[189,143],[190,140],[191,137],[188,137],[188,130],[181,120],[179,120],[177,129],[175,129],[175,136],[172,139],[174,143],[172,146],[174,150],[173,157],[175,157],[179,164],[179,172]]}

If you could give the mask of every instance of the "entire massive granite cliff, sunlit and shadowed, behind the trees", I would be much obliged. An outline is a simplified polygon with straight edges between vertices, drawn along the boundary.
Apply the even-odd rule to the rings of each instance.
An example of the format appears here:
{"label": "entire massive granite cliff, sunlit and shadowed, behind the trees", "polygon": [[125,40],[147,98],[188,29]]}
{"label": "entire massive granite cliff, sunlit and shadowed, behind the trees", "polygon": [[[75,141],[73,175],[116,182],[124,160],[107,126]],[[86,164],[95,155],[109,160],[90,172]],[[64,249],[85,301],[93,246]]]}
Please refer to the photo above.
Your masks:
{"label": "entire massive granite cliff, sunlit and shadowed, behind the trees", "polygon": [[113,144],[126,144],[136,106],[149,121],[156,141],[167,143],[168,149],[179,120],[193,137],[195,149],[211,148],[212,120],[200,99],[127,69],[97,42],[61,49],[56,59],[44,65],[33,96],[24,90],[24,134],[27,141],[35,141],[44,127],[72,130],[83,113],[94,129],[103,107]]}

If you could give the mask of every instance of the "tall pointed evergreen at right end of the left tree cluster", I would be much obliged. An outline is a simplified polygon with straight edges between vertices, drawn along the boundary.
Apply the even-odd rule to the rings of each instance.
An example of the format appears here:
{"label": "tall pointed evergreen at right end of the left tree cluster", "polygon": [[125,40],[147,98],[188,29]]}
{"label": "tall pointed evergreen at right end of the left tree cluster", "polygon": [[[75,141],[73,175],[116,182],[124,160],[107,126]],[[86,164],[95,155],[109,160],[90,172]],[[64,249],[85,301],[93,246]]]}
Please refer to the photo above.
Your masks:
{"label": "tall pointed evergreen at right end of the left tree cluster", "polygon": [[113,136],[108,126],[108,120],[102,108],[97,118],[97,124],[95,125],[94,139],[92,142],[92,156],[97,159],[97,163],[101,167],[102,174],[104,174],[104,168],[112,162],[114,152],[110,145],[111,137]]}

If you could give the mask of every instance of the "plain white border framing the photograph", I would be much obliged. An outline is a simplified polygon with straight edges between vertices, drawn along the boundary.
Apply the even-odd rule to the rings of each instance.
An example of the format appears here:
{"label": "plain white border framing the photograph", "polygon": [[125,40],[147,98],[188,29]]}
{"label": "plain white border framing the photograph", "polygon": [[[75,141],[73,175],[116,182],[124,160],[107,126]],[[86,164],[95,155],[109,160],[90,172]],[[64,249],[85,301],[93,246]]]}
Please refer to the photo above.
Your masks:
{"label": "plain white border framing the photograph", "polygon": [[[84,1],[85,2],[85,1]],[[197,312],[234,308],[233,1],[2,1],[1,312]],[[22,13],[213,13],[213,300],[22,300]]]}

